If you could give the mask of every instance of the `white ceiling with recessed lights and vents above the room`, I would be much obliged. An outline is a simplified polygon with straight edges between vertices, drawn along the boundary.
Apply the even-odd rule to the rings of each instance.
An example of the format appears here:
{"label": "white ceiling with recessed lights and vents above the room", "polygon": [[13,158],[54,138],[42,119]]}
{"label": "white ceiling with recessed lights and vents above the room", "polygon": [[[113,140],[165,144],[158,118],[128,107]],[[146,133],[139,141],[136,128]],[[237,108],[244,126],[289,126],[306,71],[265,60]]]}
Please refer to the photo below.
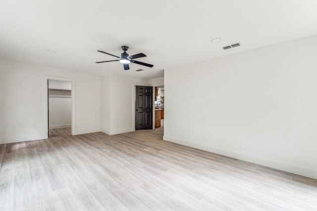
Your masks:
{"label": "white ceiling with recessed lights and vents above the room", "polygon": [[[0,57],[100,75],[163,69],[317,34],[316,0],[2,0]],[[222,41],[212,43],[211,39]],[[241,46],[222,50],[240,42]],[[121,45],[153,68],[119,62]],[[47,52],[53,49],[57,53]],[[145,71],[136,72],[137,69]]]}

